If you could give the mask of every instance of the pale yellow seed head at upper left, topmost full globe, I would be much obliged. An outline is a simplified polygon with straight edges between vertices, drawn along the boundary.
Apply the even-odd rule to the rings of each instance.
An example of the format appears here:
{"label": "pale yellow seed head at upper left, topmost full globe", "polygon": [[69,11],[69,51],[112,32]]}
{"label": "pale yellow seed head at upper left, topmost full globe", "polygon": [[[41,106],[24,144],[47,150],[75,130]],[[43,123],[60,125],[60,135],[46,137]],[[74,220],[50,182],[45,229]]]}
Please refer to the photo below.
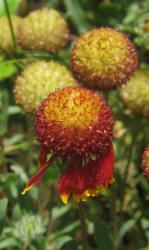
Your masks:
{"label": "pale yellow seed head at upper left, topmost full globe", "polygon": [[26,50],[56,53],[66,46],[69,38],[67,23],[54,9],[32,11],[21,22],[17,40]]}

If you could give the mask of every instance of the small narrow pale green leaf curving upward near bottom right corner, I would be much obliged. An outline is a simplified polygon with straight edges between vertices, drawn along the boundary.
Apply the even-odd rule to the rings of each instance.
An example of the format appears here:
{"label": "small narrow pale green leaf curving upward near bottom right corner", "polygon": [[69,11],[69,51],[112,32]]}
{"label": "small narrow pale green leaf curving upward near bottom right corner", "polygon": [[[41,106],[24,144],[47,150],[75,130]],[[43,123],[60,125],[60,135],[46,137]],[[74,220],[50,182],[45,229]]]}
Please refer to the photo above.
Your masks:
{"label": "small narrow pale green leaf curving upward near bottom right corner", "polygon": [[118,236],[117,236],[117,244],[119,245],[125,236],[125,234],[135,225],[135,220],[129,220],[125,222],[122,227],[119,230]]}

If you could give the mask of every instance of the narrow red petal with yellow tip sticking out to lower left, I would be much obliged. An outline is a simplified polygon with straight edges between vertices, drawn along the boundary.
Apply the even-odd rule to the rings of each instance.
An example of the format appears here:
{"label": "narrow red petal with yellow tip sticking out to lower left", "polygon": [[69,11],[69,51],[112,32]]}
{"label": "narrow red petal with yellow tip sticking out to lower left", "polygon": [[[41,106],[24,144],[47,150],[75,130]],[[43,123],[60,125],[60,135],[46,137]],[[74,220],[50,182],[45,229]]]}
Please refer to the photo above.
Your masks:
{"label": "narrow red petal with yellow tip sticking out to lower left", "polygon": [[28,183],[26,188],[22,191],[22,195],[26,194],[27,191],[29,191],[32,187],[36,186],[39,184],[40,180],[42,179],[42,177],[45,174],[45,171],[48,167],[50,167],[50,165],[52,164],[52,162],[55,160],[55,155],[53,155],[51,157],[51,159],[45,164],[45,166],[43,166],[35,175],[33,175]]}

